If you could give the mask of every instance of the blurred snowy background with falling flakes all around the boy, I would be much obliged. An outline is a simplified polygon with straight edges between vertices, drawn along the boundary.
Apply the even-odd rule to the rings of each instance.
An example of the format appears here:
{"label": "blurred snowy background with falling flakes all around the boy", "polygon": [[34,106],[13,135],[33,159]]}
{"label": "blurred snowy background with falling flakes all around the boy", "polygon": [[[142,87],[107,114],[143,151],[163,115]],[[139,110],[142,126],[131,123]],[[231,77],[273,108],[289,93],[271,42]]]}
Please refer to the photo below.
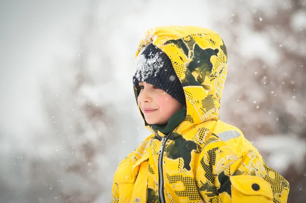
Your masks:
{"label": "blurred snowy background with falling flakes all around the boy", "polygon": [[149,135],[134,54],[159,25],[223,38],[221,120],[306,201],[306,1],[0,1],[0,202],[110,202],[119,161]]}

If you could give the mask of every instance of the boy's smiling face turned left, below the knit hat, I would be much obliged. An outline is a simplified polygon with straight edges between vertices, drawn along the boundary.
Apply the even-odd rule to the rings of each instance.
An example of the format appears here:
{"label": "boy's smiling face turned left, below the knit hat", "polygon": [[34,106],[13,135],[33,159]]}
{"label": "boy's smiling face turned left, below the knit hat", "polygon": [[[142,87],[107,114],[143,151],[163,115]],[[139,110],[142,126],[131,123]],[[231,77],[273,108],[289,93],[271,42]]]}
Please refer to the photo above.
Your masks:
{"label": "boy's smiling face turned left, below the knit hat", "polygon": [[165,91],[145,82],[139,82],[139,86],[138,105],[148,124],[167,124],[172,115],[183,108],[179,101]]}

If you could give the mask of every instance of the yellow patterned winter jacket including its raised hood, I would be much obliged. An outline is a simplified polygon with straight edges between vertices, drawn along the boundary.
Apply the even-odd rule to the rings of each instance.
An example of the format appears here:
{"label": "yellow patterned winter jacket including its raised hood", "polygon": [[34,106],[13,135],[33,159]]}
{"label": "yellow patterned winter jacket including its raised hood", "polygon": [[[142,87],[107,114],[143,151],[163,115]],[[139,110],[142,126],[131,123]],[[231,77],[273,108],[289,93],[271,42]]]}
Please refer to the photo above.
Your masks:
{"label": "yellow patterned winter jacket including its raised hood", "polygon": [[[156,27],[141,40],[136,57],[149,43],[169,56],[187,103],[186,119],[168,135],[162,154],[165,201],[287,202],[289,183],[266,165],[238,128],[219,120],[227,72],[219,35],[196,26]],[[159,202],[161,137],[166,135],[152,131],[119,163],[113,203]],[[258,191],[252,189],[255,183]]]}

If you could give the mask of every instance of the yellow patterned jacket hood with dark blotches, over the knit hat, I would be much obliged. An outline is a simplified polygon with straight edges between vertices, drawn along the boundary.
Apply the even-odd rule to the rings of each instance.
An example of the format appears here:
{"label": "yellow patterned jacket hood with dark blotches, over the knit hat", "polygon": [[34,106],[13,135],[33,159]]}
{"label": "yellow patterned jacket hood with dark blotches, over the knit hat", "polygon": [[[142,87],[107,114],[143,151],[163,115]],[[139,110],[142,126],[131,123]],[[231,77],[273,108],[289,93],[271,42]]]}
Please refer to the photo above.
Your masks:
{"label": "yellow patterned jacket hood with dark blotches, over the knit hat", "polygon": [[[227,74],[227,52],[220,36],[197,26],[151,28],[140,41],[135,61],[150,43],[168,55],[183,85],[187,107],[184,122],[192,126],[218,120]],[[135,86],[134,93],[137,102],[139,93]]]}

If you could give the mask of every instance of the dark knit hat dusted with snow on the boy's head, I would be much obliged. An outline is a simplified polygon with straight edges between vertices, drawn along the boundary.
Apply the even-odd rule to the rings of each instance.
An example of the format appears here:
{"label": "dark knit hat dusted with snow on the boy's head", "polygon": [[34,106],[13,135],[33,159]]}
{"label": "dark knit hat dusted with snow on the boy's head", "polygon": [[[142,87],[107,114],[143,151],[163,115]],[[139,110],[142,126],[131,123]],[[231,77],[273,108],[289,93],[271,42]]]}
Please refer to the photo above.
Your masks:
{"label": "dark knit hat dusted with snow on the boy's head", "polygon": [[133,84],[140,91],[139,82],[146,82],[162,89],[186,106],[182,83],[177,77],[168,55],[152,43],[135,59]]}

